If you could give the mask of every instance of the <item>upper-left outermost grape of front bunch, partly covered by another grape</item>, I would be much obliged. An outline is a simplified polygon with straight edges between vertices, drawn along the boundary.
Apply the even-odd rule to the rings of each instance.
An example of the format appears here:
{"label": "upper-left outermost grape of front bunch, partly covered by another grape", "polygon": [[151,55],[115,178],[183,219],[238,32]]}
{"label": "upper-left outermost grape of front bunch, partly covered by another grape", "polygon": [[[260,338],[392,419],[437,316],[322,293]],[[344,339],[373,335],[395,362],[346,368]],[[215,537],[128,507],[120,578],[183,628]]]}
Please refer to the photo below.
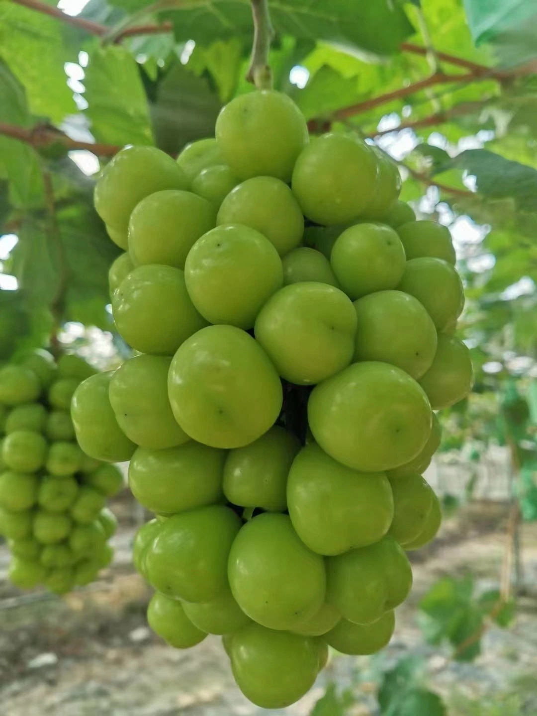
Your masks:
{"label": "upper-left outermost grape of front bunch, partly covered by another grape", "polygon": [[102,221],[126,235],[130,214],[138,202],[155,191],[186,189],[187,185],[183,170],[160,149],[127,147],[97,179],[95,208]]}

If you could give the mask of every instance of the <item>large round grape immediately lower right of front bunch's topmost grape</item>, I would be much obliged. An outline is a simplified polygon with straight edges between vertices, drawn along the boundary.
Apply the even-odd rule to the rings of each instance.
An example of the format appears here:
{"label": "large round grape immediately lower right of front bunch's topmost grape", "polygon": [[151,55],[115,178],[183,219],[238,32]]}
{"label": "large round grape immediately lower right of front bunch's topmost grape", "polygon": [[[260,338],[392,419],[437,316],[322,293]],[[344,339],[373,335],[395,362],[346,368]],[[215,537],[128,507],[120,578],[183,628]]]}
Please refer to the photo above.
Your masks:
{"label": "large round grape immediately lower right of front bunch's topmost grape", "polygon": [[299,158],[291,188],[302,211],[315,223],[332,226],[352,221],[372,203],[377,158],[352,132],[317,137]]}

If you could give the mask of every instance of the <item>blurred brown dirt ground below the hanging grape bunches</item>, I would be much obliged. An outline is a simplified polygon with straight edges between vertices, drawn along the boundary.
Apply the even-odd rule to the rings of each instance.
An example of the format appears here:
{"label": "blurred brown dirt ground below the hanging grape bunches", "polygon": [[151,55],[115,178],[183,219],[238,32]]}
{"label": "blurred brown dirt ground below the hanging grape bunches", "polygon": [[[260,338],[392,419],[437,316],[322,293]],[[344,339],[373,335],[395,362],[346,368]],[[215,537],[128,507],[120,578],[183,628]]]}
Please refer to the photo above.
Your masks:
{"label": "blurred brown dirt ground below the hanging grape bunches", "polygon": [[[0,714],[2,716],[251,716],[251,705],[233,684],[218,637],[188,652],[165,646],[145,624],[150,590],[130,566],[132,507],[116,505],[120,531],[112,568],[101,581],[58,599],[21,594],[5,581],[6,550],[0,547]],[[471,664],[445,659],[448,650],[428,647],[416,624],[415,604],[445,574],[471,571],[479,586],[493,588],[503,558],[505,505],[478,503],[442,526],[433,546],[413,556],[415,584],[397,610],[390,647],[377,657],[332,662],[298,704],[273,714],[306,716],[327,682],[352,687],[357,702],[349,716],[374,716],[374,692],[382,669],[405,654],[424,660],[429,687],[451,704],[450,716],[537,714],[537,525],[523,526],[523,574],[527,596],[516,623],[485,634],[483,654]],[[517,684],[533,684],[526,702],[485,710]],[[535,699],[535,700],[534,700]],[[457,706],[464,702],[468,710]],[[511,702],[510,702],[511,703]],[[475,710],[474,710],[475,705]],[[483,707],[483,710],[481,708]],[[267,712],[269,713],[269,712]]]}

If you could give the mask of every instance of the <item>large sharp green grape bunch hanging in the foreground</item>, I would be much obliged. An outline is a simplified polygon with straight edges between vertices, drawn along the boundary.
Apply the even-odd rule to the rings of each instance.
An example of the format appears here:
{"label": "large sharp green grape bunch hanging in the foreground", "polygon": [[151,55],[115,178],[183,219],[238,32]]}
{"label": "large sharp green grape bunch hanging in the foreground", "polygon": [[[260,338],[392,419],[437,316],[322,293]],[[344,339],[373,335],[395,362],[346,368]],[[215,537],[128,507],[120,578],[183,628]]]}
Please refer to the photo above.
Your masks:
{"label": "large sharp green grape bunch hanging in the foreground", "polygon": [[137,354],[75,392],[79,443],[130,459],[155,513],[134,546],[150,626],[177,648],[221,634],[261,707],[304,695],[328,646],[389,642],[406,553],[440,526],[422,473],[433,410],[472,382],[463,285],[448,228],[399,193],[384,153],[309,141],[271,90],[232,100],[177,162],[120,151],[95,188]]}

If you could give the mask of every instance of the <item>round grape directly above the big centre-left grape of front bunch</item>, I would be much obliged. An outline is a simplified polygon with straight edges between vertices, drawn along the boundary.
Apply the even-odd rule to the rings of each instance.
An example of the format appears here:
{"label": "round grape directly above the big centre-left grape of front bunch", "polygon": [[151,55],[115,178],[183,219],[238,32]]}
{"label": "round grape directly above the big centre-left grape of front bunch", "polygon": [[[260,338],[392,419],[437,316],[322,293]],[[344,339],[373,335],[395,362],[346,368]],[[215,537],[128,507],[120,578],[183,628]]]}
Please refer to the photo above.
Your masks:
{"label": "round grape directly above the big centre-left grape of front bunch", "polygon": [[217,226],[190,249],[185,283],[207,321],[249,329],[261,306],[284,285],[284,270],[274,246],[255,229]]}

